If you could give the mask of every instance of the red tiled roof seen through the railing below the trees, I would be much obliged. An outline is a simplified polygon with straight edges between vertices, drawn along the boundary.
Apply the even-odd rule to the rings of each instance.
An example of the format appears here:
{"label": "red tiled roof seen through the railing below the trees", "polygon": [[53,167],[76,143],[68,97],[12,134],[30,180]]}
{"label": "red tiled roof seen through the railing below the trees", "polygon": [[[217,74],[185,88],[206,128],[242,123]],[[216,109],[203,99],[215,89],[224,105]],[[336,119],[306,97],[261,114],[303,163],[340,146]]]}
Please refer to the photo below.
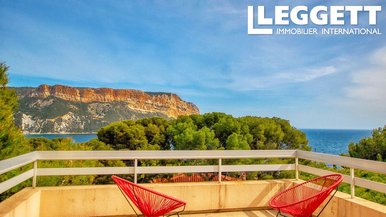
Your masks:
{"label": "red tiled roof seen through the railing below the trees", "polygon": [[[207,174],[202,173],[202,176],[206,177]],[[210,176],[212,174],[209,174]],[[225,175],[221,175],[222,181],[242,181],[242,179],[233,178]],[[157,178],[153,179],[150,182],[151,183],[165,183],[165,182],[199,182],[199,181],[205,181],[199,174],[193,173],[192,175],[186,175],[186,174],[178,174],[174,175],[171,178]],[[218,181],[218,175],[213,177],[212,181]]]}

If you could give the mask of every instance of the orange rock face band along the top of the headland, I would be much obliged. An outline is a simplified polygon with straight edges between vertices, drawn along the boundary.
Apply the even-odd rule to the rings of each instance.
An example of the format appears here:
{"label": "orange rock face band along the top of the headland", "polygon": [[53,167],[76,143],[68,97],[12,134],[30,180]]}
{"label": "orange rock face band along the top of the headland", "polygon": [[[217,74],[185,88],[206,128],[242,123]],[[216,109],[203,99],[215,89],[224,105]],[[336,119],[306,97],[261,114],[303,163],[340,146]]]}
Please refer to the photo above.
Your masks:
{"label": "orange rock face band along the top of the headland", "polygon": [[141,90],[112,89],[112,88],[85,88],[77,89],[64,85],[40,85],[35,91],[29,93],[30,97],[58,97],[69,101],[78,102],[112,102],[125,101],[136,109],[160,112],[169,117],[177,118],[179,115],[200,114],[197,106],[182,100],[178,95],[170,93],[150,96]]}

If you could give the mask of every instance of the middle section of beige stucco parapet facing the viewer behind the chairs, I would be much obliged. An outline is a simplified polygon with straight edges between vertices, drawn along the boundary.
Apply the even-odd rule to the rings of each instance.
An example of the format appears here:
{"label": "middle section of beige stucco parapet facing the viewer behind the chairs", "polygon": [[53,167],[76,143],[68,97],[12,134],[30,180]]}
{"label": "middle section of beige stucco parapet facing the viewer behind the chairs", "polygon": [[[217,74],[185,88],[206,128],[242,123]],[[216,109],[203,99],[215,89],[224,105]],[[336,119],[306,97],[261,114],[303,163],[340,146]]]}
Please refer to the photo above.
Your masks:
{"label": "middle section of beige stucco parapet facing the viewer behind the chairs", "polygon": [[[144,184],[187,202],[185,211],[240,210],[268,207],[291,180],[227,181],[222,183]],[[85,217],[134,214],[116,185],[41,188],[41,217]],[[58,210],[63,210],[58,213]]]}

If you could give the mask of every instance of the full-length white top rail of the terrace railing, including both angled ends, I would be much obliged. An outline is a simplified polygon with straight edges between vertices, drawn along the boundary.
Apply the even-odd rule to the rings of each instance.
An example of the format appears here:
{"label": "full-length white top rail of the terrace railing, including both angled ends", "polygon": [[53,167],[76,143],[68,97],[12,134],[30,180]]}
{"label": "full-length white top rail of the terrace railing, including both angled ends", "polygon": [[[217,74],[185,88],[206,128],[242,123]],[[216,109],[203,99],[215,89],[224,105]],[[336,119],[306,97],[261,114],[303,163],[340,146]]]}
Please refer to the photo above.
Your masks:
{"label": "full-length white top rail of the terrace railing, including both angled ends", "polygon": [[[237,151],[35,151],[0,161],[0,173],[39,160],[65,159],[203,159],[203,158],[299,158],[386,174],[386,163],[300,150]],[[346,163],[349,162],[349,163]],[[367,165],[363,166],[363,165]]]}

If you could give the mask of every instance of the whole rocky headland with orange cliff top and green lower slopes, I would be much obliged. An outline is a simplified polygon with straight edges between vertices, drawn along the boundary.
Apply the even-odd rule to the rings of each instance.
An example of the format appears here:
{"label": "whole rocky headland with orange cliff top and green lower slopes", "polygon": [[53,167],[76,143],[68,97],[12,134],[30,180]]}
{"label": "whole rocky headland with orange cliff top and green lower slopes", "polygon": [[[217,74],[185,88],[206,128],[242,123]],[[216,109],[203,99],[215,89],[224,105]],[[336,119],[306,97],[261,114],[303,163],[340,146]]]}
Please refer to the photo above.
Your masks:
{"label": "whole rocky headland with orange cliff top and green lower slopes", "polygon": [[19,95],[14,119],[25,133],[97,132],[119,120],[200,114],[173,93],[45,84],[14,89]]}

